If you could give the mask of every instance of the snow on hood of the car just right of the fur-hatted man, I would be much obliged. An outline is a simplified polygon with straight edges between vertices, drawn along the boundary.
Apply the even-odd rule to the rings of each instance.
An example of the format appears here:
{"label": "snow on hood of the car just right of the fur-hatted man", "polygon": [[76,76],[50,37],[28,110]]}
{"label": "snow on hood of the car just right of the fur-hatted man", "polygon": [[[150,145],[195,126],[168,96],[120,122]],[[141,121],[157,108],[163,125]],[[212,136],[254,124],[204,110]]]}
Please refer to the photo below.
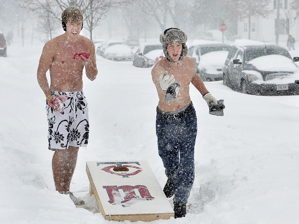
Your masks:
{"label": "snow on hood of the car just right of the fur-hatted man", "polygon": [[201,55],[198,68],[206,69],[206,72],[209,74],[218,74],[219,71],[217,71],[216,69],[222,69],[224,67],[227,55],[228,51],[213,51]]}

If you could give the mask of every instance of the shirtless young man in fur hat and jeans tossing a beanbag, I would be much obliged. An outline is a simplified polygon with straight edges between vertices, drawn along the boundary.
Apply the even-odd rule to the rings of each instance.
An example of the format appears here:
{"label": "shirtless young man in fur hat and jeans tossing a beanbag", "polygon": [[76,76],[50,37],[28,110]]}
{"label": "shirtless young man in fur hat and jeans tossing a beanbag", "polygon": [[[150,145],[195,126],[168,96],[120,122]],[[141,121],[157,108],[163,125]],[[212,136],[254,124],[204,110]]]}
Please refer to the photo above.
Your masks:
{"label": "shirtless young man in fur hat and jeans tossing a beanbag", "polygon": [[[152,69],[152,80],[159,96],[156,118],[158,152],[168,178],[163,191],[168,198],[174,194],[175,218],[185,216],[194,181],[197,118],[189,95],[190,82],[203,95],[208,106],[210,102],[217,104],[196,74],[194,59],[186,57],[186,41],[183,31],[177,28],[165,30],[160,35],[165,57]],[[173,101],[165,101],[166,90],[174,82],[180,84],[177,97]]]}

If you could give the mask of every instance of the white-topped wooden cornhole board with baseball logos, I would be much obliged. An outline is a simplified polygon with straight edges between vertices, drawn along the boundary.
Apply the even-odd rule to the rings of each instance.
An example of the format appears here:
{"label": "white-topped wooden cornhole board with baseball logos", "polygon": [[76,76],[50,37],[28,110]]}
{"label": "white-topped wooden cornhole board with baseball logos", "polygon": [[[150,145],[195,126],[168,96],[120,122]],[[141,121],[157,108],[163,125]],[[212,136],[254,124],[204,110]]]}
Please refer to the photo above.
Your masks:
{"label": "white-topped wooden cornhole board with baseball logos", "polygon": [[147,161],[88,161],[89,193],[106,220],[152,221],[174,217]]}

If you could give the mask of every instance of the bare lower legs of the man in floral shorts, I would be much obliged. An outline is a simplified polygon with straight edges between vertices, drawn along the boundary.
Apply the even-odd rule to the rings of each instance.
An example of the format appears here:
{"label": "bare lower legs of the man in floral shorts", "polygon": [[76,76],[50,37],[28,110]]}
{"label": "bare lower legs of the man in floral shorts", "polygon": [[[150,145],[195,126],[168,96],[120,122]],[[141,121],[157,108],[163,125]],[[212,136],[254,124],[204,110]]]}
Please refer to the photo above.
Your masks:
{"label": "bare lower legs of the man in floral shorts", "polygon": [[57,191],[69,191],[71,179],[77,163],[79,147],[56,149],[52,159],[52,169]]}

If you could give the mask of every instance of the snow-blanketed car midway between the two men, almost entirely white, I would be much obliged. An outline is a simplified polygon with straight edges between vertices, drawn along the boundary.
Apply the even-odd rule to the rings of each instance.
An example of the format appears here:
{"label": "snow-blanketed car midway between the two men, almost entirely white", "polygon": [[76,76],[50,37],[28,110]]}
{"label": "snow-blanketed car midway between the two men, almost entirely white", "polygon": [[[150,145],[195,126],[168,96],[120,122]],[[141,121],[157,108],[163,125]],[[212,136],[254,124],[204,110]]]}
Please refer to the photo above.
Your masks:
{"label": "snow-blanketed car midway between the two men, almost entirely white", "polygon": [[133,61],[133,52],[128,44],[112,44],[106,47],[104,50],[104,58],[113,61]]}

